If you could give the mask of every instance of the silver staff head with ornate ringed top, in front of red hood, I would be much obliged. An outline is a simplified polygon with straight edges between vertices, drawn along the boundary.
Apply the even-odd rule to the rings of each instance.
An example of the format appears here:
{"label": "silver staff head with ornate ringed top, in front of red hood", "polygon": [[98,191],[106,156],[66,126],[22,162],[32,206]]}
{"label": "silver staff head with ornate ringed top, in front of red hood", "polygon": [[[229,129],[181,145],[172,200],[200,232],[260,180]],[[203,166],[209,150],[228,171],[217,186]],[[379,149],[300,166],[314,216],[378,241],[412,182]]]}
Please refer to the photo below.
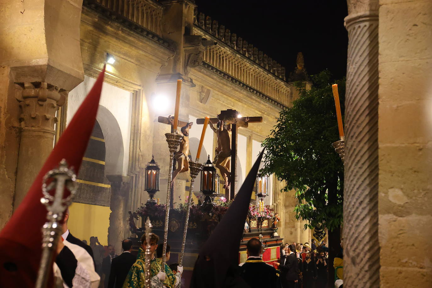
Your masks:
{"label": "silver staff head with ornate ringed top, in front of red hood", "polygon": [[[47,184],[47,181],[52,181]],[[51,270],[52,256],[57,247],[57,239],[61,234],[61,220],[63,212],[72,203],[72,198],[76,192],[76,175],[73,169],[67,166],[63,159],[60,161],[59,168],[48,171],[45,174],[42,184],[41,203],[47,207],[47,219],[42,228],[42,256],[41,265],[39,266],[38,279],[36,279],[36,288],[44,288],[47,285],[48,272]],[[54,196],[50,191],[55,188]],[[70,195],[63,199],[65,188],[70,191]]]}

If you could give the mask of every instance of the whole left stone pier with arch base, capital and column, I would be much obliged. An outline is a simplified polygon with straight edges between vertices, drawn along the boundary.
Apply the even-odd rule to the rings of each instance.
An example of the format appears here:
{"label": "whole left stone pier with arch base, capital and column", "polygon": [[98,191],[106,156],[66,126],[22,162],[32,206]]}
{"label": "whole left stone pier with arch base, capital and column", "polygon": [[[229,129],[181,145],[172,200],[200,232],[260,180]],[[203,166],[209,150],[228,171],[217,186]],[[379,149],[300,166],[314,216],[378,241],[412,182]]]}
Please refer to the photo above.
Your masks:
{"label": "whole left stone pier with arch base, capital and column", "polygon": [[7,192],[0,205],[0,227],[53,148],[55,113],[64,103],[65,90],[84,79],[79,40],[83,0],[1,3],[0,187]]}

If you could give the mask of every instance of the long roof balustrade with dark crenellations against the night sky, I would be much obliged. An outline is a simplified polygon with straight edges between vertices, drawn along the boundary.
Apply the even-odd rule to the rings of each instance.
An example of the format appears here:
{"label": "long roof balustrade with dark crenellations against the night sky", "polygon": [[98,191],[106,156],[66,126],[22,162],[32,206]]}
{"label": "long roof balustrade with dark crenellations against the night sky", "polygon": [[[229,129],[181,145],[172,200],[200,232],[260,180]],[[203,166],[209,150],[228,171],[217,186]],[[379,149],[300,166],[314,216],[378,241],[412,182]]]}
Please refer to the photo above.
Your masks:
{"label": "long roof balustrade with dark crenellations against the night sky", "polygon": [[[290,103],[290,86],[282,67],[217,21],[194,13],[194,34],[217,40],[204,51],[203,65],[280,107]],[[210,36],[210,37],[209,37]]]}

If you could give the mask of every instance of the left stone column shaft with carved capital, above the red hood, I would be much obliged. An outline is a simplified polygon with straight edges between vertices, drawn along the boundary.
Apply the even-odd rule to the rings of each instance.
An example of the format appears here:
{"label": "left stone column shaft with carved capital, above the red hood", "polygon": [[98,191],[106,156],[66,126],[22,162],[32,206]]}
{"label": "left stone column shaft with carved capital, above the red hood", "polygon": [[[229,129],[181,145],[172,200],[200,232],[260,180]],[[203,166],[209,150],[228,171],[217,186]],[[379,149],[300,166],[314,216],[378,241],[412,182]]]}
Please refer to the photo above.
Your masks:
{"label": "left stone column shaft with carved capital, above the red hood", "polygon": [[24,199],[39,169],[54,145],[56,112],[64,104],[65,92],[46,82],[25,82],[17,92],[21,110],[21,137],[13,209]]}

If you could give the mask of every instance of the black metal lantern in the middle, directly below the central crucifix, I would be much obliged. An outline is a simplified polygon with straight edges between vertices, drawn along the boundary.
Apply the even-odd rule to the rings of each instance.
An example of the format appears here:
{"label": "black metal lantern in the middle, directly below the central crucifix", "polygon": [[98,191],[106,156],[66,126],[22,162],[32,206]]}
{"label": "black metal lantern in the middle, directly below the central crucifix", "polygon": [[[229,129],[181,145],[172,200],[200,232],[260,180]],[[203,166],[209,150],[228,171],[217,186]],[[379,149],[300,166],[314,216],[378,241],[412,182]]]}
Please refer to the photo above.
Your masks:
{"label": "black metal lantern in the middle, directly below the central crucifix", "polygon": [[201,171],[201,193],[205,195],[203,205],[216,205],[214,197],[219,195],[219,178],[216,168],[210,161],[210,155],[208,155],[208,159]]}

